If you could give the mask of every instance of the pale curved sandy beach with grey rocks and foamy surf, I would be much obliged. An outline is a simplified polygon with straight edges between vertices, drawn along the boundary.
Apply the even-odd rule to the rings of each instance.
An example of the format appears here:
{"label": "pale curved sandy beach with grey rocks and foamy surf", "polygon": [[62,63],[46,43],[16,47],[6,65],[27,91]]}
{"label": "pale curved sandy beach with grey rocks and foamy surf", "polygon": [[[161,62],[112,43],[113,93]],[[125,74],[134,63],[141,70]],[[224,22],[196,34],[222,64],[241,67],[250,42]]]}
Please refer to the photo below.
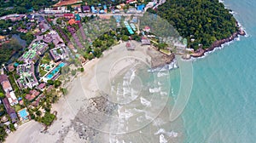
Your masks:
{"label": "pale curved sandy beach with grey rocks and foamy surf", "polygon": [[[52,106],[51,111],[57,112],[57,119],[47,131],[42,132],[43,126],[40,123],[30,121],[22,124],[14,133],[9,134],[6,142],[69,143],[106,142],[106,140],[113,142],[114,140],[127,138],[124,135],[117,136],[117,133],[142,129],[144,125],[152,122],[160,114],[160,112],[155,111],[165,108],[165,104],[159,106],[159,103],[162,103],[163,100],[167,101],[164,97],[166,94],[158,99],[147,100],[148,96],[138,97],[138,95],[132,95],[132,93],[129,96],[118,95],[117,93],[113,94],[111,91],[111,83],[113,83],[114,78],[124,74],[126,70],[132,70],[133,67],[140,64],[150,68],[152,57],[148,54],[149,46],[141,46],[137,42],[132,43],[135,45],[134,51],[128,51],[125,48],[125,43],[119,43],[119,45],[105,51],[102,58],[90,60],[84,65],[84,72],[68,86],[68,94],[61,97]],[[130,77],[132,76],[130,75]],[[137,77],[130,78],[130,83],[131,80],[142,82],[140,79],[137,80]],[[137,84],[135,83],[136,86]],[[131,86],[131,88],[137,89],[138,87]],[[148,92],[148,89],[146,91]],[[128,104],[131,101],[137,105],[137,108],[134,108],[135,105]],[[154,112],[143,111],[148,110],[147,108],[154,106],[154,104],[158,105],[152,110]],[[127,114],[128,112],[130,112],[130,115]],[[135,117],[132,118],[134,114]],[[132,118],[131,122],[134,123],[130,125],[124,124],[130,117]],[[140,123],[137,120],[140,120]],[[141,122],[141,120],[144,121]],[[119,125],[113,125],[113,123],[118,123]],[[140,126],[142,127],[138,128]],[[154,129],[157,128],[154,127]],[[143,133],[146,130],[142,129],[140,132]],[[131,133],[128,138],[132,135],[136,136],[137,133]],[[143,135],[146,136],[147,134]],[[156,140],[159,140],[159,137]]]}

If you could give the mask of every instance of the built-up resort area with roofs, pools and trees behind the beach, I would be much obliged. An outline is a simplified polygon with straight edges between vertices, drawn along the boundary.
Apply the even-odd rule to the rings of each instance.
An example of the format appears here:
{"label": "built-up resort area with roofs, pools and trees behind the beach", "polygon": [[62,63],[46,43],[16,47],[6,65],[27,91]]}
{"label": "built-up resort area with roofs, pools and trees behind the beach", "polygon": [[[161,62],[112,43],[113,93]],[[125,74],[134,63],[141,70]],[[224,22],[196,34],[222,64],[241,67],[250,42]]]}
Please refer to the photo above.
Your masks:
{"label": "built-up resort area with roofs, pools and trees behind the beach", "polygon": [[[135,40],[142,46],[171,54],[170,47],[160,46],[160,39],[151,33],[150,26],[140,24],[144,10],[154,8],[156,2],[129,0],[114,6],[83,3],[72,5],[71,9],[63,3],[67,2],[56,3],[53,8],[40,10],[39,14],[13,14],[3,18],[15,22],[9,29],[18,31],[21,41],[26,40],[26,46],[16,51],[15,58],[3,63],[1,69],[3,102],[0,105],[3,104],[5,111],[1,121],[7,126],[6,133],[31,120],[49,126],[56,116],[51,105],[67,94],[68,83],[79,72],[84,72],[83,65],[100,58],[102,52],[113,45],[125,43],[126,50],[134,50]],[[8,36],[1,36],[1,44],[9,41]],[[185,47],[183,43],[178,44]]]}

